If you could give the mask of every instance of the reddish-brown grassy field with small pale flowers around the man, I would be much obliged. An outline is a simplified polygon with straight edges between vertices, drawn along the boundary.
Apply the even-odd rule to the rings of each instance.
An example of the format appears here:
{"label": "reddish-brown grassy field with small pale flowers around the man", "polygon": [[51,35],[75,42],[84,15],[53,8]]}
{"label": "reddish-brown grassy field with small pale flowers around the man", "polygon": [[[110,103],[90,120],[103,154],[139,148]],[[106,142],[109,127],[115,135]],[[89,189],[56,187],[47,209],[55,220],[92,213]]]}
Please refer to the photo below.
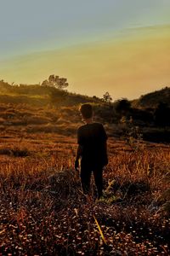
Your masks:
{"label": "reddish-brown grassy field with small pale flowers around the man", "polygon": [[94,181],[86,198],[74,171],[74,132],[11,127],[0,136],[0,255],[169,255],[168,145],[110,138],[95,201]]}

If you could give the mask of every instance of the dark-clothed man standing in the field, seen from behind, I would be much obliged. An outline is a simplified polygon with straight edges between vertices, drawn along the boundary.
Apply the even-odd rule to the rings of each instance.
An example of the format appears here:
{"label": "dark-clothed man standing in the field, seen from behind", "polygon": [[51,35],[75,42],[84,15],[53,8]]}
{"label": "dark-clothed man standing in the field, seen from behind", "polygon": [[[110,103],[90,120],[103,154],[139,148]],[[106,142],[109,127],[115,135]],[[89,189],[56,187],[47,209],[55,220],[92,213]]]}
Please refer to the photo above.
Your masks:
{"label": "dark-clothed man standing in the field, seen from behind", "polygon": [[93,172],[98,198],[100,198],[103,190],[103,167],[108,164],[107,135],[103,125],[93,122],[93,109],[90,104],[82,104],[79,110],[85,125],[80,126],[77,130],[78,148],[75,169],[78,170],[81,158],[82,191],[85,195],[89,194]]}

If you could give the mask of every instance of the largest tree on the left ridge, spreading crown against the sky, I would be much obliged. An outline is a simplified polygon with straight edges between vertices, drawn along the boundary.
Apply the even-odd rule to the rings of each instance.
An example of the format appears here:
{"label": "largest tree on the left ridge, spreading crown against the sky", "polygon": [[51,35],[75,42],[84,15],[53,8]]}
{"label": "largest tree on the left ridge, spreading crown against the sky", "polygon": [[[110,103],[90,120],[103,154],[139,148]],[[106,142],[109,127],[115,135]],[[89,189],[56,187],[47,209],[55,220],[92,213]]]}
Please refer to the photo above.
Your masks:
{"label": "largest tree on the left ridge, spreading crown against the sky", "polygon": [[59,78],[59,76],[54,76],[54,74],[53,74],[53,75],[50,75],[48,77],[48,79],[44,80],[42,82],[42,85],[53,86],[53,87],[58,88],[58,89],[64,89],[69,84],[67,83],[67,79]]}

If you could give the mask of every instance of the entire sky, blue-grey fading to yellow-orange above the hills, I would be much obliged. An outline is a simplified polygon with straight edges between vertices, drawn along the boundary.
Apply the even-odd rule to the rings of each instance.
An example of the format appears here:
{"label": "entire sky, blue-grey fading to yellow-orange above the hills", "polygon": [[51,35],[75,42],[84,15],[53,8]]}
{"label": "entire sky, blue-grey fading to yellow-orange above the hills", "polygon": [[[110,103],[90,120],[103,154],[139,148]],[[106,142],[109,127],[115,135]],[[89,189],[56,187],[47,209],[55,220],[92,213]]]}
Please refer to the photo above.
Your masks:
{"label": "entire sky, blue-grey fading to yellow-orange above the hills", "polygon": [[133,99],[170,84],[169,35],[169,0],[0,0],[0,79]]}

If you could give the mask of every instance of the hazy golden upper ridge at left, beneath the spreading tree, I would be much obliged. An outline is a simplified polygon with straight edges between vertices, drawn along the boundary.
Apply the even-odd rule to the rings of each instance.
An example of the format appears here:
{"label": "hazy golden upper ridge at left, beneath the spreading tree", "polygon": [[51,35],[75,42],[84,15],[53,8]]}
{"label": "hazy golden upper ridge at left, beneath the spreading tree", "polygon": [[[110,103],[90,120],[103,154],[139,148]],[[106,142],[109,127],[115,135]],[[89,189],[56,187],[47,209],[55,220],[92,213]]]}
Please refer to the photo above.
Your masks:
{"label": "hazy golden upper ridge at left, beneath the spreading tree", "polygon": [[103,103],[98,97],[82,96],[59,90],[54,86],[40,84],[10,85],[3,80],[0,81],[0,102],[2,103],[26,103],[31,106],[77,106],[83,102]]}

